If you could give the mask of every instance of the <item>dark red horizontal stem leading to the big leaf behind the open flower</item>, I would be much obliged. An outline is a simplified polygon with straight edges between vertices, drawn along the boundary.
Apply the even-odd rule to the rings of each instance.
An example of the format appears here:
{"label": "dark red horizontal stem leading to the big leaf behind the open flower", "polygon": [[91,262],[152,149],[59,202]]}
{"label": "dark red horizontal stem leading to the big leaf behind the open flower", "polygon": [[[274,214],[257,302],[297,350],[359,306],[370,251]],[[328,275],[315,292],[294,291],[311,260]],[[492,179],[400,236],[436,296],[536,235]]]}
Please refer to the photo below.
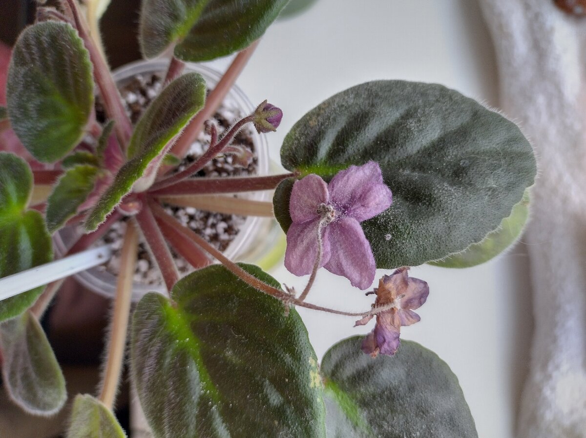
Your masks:
{"label": "dark red horizontal stem leading to the big leaf behind the open flower", "polygon": [[155,196],[177,196],[183,194],[240,193],[242,191],[272,190],[295,173],[271,176],[246,176],[227,178],[192,178],[172,186],[156,189],[156,184],[149,192]]}

